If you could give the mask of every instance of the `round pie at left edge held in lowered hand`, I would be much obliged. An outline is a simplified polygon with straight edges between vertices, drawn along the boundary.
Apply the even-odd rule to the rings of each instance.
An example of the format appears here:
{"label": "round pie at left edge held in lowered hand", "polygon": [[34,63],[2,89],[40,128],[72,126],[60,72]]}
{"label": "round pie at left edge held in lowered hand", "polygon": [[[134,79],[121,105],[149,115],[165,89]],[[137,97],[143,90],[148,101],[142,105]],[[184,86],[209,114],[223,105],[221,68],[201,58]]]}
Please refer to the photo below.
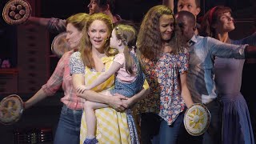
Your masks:
{"label": "round pie at left edge held in lowered hand", "polygon": [[17,122],[23,112],[23,101],[16,94],[3,98],[0,102],[0,122],[8,125]]}

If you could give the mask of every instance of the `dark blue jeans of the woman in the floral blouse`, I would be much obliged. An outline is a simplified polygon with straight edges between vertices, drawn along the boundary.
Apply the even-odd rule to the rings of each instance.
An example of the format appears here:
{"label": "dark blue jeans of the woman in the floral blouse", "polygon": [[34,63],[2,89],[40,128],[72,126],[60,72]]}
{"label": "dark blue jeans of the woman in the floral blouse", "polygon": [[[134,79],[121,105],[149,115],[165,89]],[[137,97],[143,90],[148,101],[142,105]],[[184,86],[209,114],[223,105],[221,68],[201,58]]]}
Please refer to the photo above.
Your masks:
{"label": "dark blue jeans of the woman in the floral blouse", "polygon": [[184,113],[168,126],[167,122],[156,114],[142,114],[141,133],[142,144],[170,144],[177,143],[183,125]]}

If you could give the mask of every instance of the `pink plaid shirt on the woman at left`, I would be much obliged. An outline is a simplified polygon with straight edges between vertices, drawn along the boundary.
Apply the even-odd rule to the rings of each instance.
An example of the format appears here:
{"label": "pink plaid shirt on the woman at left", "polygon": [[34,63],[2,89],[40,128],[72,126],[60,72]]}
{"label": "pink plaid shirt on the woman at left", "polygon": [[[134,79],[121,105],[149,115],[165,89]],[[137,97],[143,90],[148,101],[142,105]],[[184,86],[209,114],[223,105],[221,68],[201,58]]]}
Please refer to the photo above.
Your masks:
{"label": "pink plaid shirt on the woman at left", "polygon": [[54,73],[51,75],[48,82],[42,86],[42,90],[47,95],[54,95],[59,87],[62,86],[64,97],[61,98],[61,101],[72,110],[82,110],[84,100],[75,94],[70,76],[69,62],[70,55],[73,53],[74,51],[71,50],[63,54],[62,58],[58,61]]}

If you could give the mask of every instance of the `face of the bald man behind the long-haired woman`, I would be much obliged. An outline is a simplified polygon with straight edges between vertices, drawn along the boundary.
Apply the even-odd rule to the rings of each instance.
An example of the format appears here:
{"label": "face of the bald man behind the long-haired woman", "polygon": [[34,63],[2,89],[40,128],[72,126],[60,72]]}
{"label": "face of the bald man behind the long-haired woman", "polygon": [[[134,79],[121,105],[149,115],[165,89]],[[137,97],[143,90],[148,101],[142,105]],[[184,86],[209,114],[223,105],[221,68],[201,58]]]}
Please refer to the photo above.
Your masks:
{"label": "face of the bald man behind the long-haired woman", "polygon": [[192,24],[189,22],[188,18],[179,15],[176,15],[176,21],[182,31],[182,36],[186,38],[186,41],[189,41],[194,36],[195,23]]}

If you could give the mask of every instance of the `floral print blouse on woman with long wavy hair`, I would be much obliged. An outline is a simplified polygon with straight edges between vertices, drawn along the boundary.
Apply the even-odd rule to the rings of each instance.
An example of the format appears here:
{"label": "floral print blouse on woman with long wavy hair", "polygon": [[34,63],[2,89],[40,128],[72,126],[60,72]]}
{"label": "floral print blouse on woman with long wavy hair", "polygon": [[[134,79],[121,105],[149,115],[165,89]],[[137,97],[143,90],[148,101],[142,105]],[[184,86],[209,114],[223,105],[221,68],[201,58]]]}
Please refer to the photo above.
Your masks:
{"label": "floral print blouse on woman with long wavy hair", "polygon": [[143,59],[150,94],[142,99],[137,112],[155,113],[171,125],[185,108],[179,74],[188,69],[188,53],[161,54],[157,62]]}

